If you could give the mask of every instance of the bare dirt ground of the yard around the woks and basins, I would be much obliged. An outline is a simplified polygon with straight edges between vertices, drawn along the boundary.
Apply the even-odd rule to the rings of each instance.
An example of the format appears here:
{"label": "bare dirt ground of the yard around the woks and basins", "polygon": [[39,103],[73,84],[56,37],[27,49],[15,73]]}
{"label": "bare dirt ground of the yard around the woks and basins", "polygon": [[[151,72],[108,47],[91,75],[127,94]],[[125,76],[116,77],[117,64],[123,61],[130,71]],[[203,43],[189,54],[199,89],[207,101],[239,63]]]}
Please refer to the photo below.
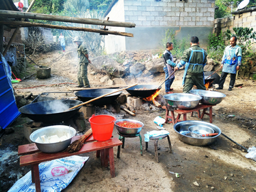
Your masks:
{"label": "bare dirt ground of the yard around the woks and basins", "polygon": [[[45,65],[58,58],[60,54],[64,54],[63,57],[50,66],[51,77],[49,79],[41,80],[32,76],[14,84],[16,93],[22,95],[25,92],[33,92],[33,95],[38,95],[41,92],[67,91],[65,86],[75,87],[77,60],[73,49],[67,48],[65,53],[56,51],[36,55],[33,59],[38,65]],[[91,87],[104,86],[99,81],[103,75],[92,75],[90,72],[89,69]],[[182,92],[182,75],[183,71],[176,73],[172,86],[174,92]],[[139,82],[139,84],[159,85],[163,80],[164,74],[161,74],[157,75],[152,82],[143,78],[134,78],[127,84]],[[238,144],[246,148],[255,146],[256,83],[251,80],[238,79],[236,84],[243,84],[242,87],[235,87],[233,91],[228,92],[229,80],[227,78],[224,89],[220,90],[226,97],[219,105],[213,107],[213,124]],[[66,84],[66,82],[74,84]],[[161,89],[160,94],[164,95],[164,88]],[[48,96],[56,99],[75,97],[73,92],[49,94]],[[98,111],[102,112],[102,110]],[[235,145],[223,135],[220,135],[217,141],[210,146],[192,146],[178,139],[173,124],[164,124],[164,128],[170,132],[173,154],[169,153],[167,139],[160,140],[159,163],[157,163],[154,156],[154,142],[150,141],[148,151],[144,150],[144,134],[157,129],[153,119],[158,115],[164,117],[165,110],[137,110],[135,117],[123,111],[120,114],[125,118],[137,119],[144,123],[145,126],[141,132],[143,156],[140,154],[139,137],[127,138],[124,149],[121,149],[120,159],[117,159],[117,147],[114,148],[116,176],[111,178],[110,169],[100,166],[100,159],[95,157],[95,152],[85,154],[85,156],[90,156],[90,159],[63,191],[256,191],[255,161],[245,158],[247,152],[242,151],[240,146]],[[233,117],[228,117],[230,114]],[[198,118],[188,115],[188,120],[198,120]],[[18,145],[28,144],[23,137],[22,126],[28,121],[30,120],[26,117],[18,117],[11,124],[15,132],[4,134],[0,139],[1,169],[4,169],[0,179],[0,191],[8,191],[12,184],[30,169],[28,166],[19,167],[16,153]],[[209,117],[205,116],[203,121],[209,122]],[[115,128],[113,136],[118,137]],[[180,177],[177,178],[169,171],[178,173]],[[12,183],[8,182],[10,180]]]}

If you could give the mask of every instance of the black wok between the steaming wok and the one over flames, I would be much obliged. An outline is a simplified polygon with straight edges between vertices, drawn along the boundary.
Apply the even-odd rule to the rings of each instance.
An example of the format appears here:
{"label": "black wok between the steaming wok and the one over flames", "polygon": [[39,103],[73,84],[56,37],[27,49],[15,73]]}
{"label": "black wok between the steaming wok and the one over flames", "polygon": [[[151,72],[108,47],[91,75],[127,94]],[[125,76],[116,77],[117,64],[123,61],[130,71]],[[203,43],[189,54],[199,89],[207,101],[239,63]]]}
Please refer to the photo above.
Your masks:
{"label": "black wok between the steaming wok and the one over flames", "polygon": [[[82,102],[87,102],[89,100],[92,100],[96,97],[100,97],[102,95],[105,95],[110,92],[117,91],[116,89],[92,89],[92,90],[81,90],[78,92],[75,92],[75,96],[78,97],[79,100]],[[121,95],[122,91],[114,92],[113,94],[107,95],[105,97],[102,97],[98,100],[92,101],[93,105],[101,106],[101,105],[108,105]]]}

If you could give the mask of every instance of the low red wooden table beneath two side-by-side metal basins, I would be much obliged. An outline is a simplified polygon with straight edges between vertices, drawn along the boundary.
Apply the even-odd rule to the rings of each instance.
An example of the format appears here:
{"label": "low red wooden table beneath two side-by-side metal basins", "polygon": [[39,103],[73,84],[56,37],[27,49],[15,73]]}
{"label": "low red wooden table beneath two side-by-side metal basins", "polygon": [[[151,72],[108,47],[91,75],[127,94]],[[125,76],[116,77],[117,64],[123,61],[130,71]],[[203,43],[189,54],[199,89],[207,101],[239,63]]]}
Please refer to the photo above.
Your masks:
{"label": "low red wooden table beneath two side-by-side metal basins", "polygon": [[[181,122],[181,114],[183,114],[183,121],[186,121],[186,114],[188,112],[191,113],[191,117],[193,116],[193,112],[197,112],[198,113],[198,118],[199,119],[203,119],[203,116],[205,114],[207,114],[209,117],[210,117],[210,123],[213,122],[213,106],[215,105],[198,105],[196,106],[195,108],[191,109],[191,110],[174,110],[174,111],[171,111],[171,116],[169,116],[169,110],[168,110],[168,107],[166,107],[166,123],[168,122],[168,118],[171,119],[171,122],[173,124],[176,124],[176,122]],[[206,112],[206,110],[209,108],[210,112]],[[203,110],[202,114],[200,113],[200,110]],[[174,112],[178,113],[178,116],[175,118],[175,115],[174,115]]]}

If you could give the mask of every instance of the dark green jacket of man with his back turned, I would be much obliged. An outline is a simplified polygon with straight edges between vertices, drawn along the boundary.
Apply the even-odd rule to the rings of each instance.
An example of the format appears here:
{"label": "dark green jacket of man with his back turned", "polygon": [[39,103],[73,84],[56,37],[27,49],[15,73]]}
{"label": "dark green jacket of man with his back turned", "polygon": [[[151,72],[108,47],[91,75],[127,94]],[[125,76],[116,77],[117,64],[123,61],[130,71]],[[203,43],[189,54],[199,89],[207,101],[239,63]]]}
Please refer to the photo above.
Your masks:
{"label": "dark green jacket of man with his back turned", "polygon": [[[199,46],[192,46],[191,48],[192,50],[202,50],[202,48],[200,48]],[[188,63],[188,60],[191,56],[191,48],[184,50],[183,56],[181,57],[181,60],[183,60],[186,63]],[[204,52],[204,59],[203,59],[203,53],[193,52],[190,63],[206,64],[207,53],[206,53],[206,50],[203,50],[203,52]],[[203,73],[203,65],[189,65],[187,74],[191,74],[191,73],[193,74]]]}

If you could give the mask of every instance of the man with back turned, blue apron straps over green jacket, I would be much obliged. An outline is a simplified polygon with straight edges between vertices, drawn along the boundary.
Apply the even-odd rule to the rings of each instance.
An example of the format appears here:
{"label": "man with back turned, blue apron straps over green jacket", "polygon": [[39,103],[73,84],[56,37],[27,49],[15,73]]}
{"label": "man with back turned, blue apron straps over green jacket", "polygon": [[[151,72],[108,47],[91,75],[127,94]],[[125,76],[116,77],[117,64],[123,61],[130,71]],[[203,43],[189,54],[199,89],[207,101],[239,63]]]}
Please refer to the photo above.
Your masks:
{"label": "man with back turned, blue apron straps over green jacket", "polygon": [[191,48],[184,50],[180,63],[175,67],[179,70],[185,65],[183,75],[183,92],[188,93],[193,85],[196,85],[198,90],[206,90],[204,85],[203,67],[207,62],[206,50],[199,47],[199,39],[196,36],[191,37]]}

